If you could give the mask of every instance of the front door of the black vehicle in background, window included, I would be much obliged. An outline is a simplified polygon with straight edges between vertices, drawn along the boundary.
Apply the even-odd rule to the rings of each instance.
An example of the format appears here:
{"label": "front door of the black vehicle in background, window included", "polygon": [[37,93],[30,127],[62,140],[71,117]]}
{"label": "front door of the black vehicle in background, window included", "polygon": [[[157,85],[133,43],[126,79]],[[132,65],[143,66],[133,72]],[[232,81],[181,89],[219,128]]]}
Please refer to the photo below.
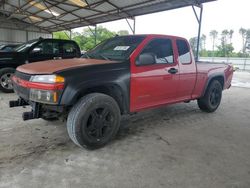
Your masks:
{"label": "front door of the black vehicle in background, window included", "polygon": [[28,61],[44,61],[58,56],[60,56],[59,43],[57,41],[45,40],[32,47],[28,54]]}

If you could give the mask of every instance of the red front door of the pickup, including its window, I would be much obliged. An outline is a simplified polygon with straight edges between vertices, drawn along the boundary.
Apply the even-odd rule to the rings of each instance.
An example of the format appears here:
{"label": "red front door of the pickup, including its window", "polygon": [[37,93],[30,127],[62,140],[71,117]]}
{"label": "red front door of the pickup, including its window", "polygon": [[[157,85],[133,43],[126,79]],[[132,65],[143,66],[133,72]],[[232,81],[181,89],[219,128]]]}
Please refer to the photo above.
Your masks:
{"label": "red front door of the pickup, including its window", "polygon": [[[155,63],[140,65],[138,58],[141,54],[153,54]],[[130,110],[132,112],[175,100],[179,74],[171,39],[149,40],[138,54],[136,61],[131,63]],[[175,71],[171,73],[171,70]]]}

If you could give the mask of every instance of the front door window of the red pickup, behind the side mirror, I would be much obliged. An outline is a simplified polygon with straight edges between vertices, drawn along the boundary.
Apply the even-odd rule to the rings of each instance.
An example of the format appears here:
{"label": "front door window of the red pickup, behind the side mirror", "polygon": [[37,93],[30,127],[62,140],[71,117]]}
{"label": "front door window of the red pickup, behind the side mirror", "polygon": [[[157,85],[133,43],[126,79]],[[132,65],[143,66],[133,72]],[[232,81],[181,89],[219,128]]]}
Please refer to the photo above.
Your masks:
{"label": "front door window of the red pickup, behind the side mirror", "polygon": [[154,39],[142,50],[141,54],[153,54],[156,64],[174,63],[172,42],[170,39]]}

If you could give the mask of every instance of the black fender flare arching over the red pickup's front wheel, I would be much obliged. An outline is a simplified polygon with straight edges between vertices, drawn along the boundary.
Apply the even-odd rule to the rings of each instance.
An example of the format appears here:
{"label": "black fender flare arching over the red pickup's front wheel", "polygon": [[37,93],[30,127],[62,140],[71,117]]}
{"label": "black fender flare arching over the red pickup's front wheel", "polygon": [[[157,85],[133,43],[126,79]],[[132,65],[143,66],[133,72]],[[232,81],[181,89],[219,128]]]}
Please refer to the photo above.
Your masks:
{"label": "black fender flare arching over the red pickup's front wheel", "polygon": [[87,94],[90,94],[90,93],[102,93],[105,95],[109,95],[110,97],[115,99],[115,101],[117,102],[117,104],[121,110],[121,114],[124,114],[127,112],[125,97],[122,94],[122,90],[120,89],[119,86],[104,85],[104,86],[87,88],[86,90],[84,90],[83,92],[81,92],[79,94],[79,96],[77,97],[77,100],[79,100],[81,97],[83,97]]}

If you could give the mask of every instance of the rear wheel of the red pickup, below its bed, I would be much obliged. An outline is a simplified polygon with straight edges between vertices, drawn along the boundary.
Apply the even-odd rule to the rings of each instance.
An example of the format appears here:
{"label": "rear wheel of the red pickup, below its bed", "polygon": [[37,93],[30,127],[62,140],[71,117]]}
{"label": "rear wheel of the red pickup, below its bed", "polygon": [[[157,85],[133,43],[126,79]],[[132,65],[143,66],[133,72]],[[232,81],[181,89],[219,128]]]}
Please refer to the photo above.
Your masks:
{"label": "rear wheel of the red pickup, below its bed", "polygon": [[222,98],[222,85],[218,80],[213,80],[207,90],[205,95],[198,99],[198,106],[204,112],[214,112],[220,105]]}

